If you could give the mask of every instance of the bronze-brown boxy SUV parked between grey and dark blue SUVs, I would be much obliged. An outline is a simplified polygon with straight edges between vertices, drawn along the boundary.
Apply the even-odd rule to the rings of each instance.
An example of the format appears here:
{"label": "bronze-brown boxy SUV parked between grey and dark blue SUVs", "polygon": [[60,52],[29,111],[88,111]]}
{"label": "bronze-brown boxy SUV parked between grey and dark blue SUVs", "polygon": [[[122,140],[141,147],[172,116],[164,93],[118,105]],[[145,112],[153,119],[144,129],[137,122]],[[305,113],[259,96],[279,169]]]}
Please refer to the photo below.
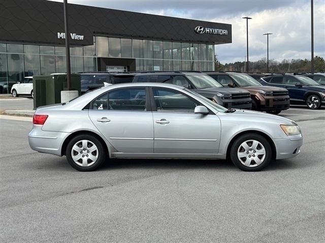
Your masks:
{"label": "bronze-brown boxy SUV parked between grey and dark blue SUVs", "polygon": [[262,86],[254,78],[242,72],[207,71],[205,72],[225,87],[241,88],[250,92],[252,109],[279,114],[289,109],[290,101],[286,89]]}

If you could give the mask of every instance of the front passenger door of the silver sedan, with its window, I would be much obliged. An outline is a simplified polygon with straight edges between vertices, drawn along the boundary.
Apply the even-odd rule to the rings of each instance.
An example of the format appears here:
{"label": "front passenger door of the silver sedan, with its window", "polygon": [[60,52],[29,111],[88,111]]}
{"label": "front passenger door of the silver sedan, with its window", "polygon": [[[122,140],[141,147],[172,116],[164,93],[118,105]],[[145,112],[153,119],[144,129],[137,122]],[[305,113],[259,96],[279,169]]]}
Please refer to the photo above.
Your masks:
{"label": "front passenger door of the silver sedan, with its window", "polygon": [[218,153],[221,129],[217,115],[194,113],[201,104],[175,90],[152,88],[152,95],[154,153],[174,157]]}

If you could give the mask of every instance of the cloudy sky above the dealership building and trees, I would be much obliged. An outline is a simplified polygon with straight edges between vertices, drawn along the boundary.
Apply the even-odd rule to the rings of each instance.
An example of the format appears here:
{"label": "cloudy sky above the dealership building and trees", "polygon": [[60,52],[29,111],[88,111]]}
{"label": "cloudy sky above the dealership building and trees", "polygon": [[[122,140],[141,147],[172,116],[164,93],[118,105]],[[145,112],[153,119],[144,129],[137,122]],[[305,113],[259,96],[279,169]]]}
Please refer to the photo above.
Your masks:
{"label": "cloudy sky above the dealership building and trees", "polygon": [[[62,0],[54,0],[63,2]],[[243,61],[249,16],[249,60],[310,58],[310,0],[68,0],[71,4],[232,24],[233,42],[217,45],[221,63]],[[314,52],[325,57],[325,0],[314,0]]]}

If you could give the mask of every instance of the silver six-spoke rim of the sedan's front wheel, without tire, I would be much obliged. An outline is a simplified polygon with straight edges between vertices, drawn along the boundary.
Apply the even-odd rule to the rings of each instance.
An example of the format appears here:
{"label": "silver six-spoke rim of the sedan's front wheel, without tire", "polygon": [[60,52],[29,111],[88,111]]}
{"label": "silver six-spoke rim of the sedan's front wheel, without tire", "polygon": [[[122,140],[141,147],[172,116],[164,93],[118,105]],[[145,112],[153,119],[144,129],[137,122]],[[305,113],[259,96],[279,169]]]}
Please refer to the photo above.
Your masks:
{"label": "silver six-spoke rim of the sedan's front wheel, without tire", "polygon": [[263,163],[266,150],[261,142],[247,140],[239,146],[237,156],[244,166],[256,167]]}

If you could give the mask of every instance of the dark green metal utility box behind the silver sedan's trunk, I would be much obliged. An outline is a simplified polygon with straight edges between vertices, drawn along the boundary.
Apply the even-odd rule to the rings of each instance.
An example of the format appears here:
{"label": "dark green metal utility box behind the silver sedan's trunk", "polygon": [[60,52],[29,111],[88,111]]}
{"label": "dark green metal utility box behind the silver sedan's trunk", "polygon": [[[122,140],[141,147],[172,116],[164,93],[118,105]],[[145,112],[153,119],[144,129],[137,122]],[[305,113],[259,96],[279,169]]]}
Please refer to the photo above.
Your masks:
{"label": "dark green metal utility box behind the silver sedan's trunk", "polygon": [[[32,77],[34,109],[43,105],[61,103],[61,91],[67,90],[67,74],[35,75]],[[71,74],[70,90],[81,94],[80,74]]]}

